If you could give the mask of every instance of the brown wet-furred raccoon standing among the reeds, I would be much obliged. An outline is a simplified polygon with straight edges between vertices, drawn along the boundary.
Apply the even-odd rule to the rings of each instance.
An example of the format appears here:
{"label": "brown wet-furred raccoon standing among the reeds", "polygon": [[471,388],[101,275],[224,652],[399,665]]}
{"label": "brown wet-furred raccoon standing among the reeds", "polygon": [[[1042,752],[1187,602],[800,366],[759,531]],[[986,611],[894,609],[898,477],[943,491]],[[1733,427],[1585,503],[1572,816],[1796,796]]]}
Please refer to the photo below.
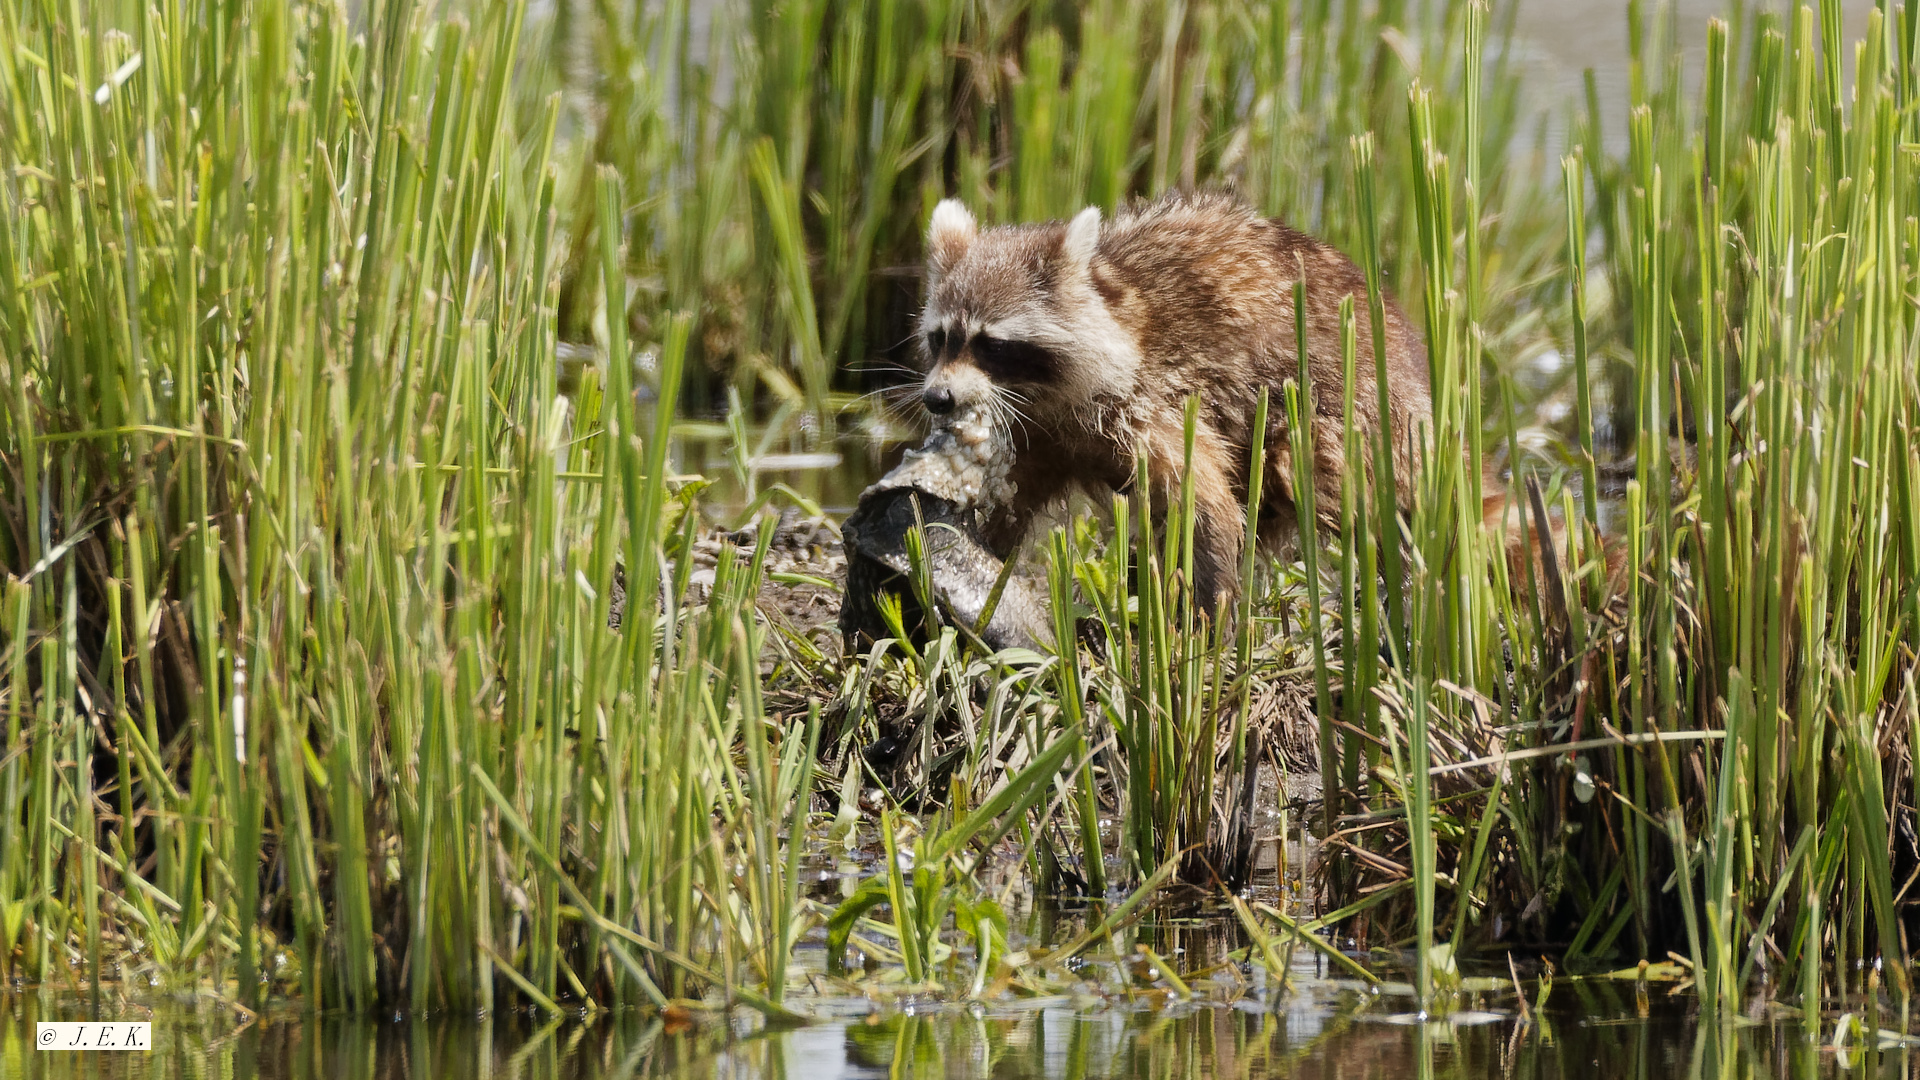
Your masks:
{"label": "brown wet-furred raccoon standing among the reeds", "polygon": [[[920,346],[929,413],[991,409],[1008,429],[1014,494],[985,523],[1008,557],[1035,517],[1071,490],[1123,492],[1139,457],[1156,513],[1187,467],[1185,402],[1194,429],[1194,600],[1212,613],[1238,586],[1254,413],[1269,390],[1263,546],[1298,534],[1294,469],[1281,386],[1298,379],[1294,281],[1306,277],[1313,382],[1315,505],[1336,527],[1346,477],[1340,300],[1354,296],[1359,357],[1356,423],[1392,432],[1394,471],[1409,477],[1419,421],[1430,415],[1427,348],[1392,298],[1386,309],[1388,415],[1379,415],[1365,275],[1334,248],[1260,215],[1227,192],[1179,192],[1112,219],[979,229],[958,202],[927,227]],[[1398,484],[1405,509],[1411,484]]]}

